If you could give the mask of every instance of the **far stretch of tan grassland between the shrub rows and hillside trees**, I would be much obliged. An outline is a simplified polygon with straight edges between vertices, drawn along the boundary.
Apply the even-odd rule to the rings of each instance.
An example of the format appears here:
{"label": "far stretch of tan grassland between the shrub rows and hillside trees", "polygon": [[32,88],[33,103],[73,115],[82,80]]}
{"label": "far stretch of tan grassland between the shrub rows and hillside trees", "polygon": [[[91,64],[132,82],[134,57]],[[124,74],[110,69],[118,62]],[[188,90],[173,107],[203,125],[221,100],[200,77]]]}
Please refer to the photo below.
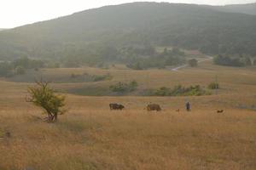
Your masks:
{"label": "far stretch of tan grassland between the shrub rows and hillside trees", "polygon": [[[90,75],[107,75],[111,77],[110,80],[99,82],[72,82],[71,75],[84,73]],[[14,78],[2,79],[4,82],[33,82],[35,79],[43,77],[44,80],[54,82],[55,88],[62,93],[81,94],[81,95],[108,95],[94,94],[88,91],[108,91],[109,86],[116,82],[131,82],[133,80],[138,82],[138,90],[150,88],[173,88],[181,84],[189,87],[190,85],[201,85],[207,88],[210,82],[215,82],[218,77],[218,82],[221,85],[220,94],[240,94],[241,88],[243,94],[252,94],[256,92],[256,67],[235,68],[212,65],[211,61],[200,63],[197,68],[186,67],[178,71],[151,69],[146,71],[133,71],[130,69],[123,69],[117,66],[111,69],[100,68],[60,68],[60,69],[42,69],[37,73],[31,75],[22,75]],[[58,83],[55,83],[58,82]],[[18,85],[20,89],[20,85]],[[81,91],[82,93],[80,93]],[[85,92],[85,93],[83,93]],[[132,94],[131,94],[132,95]],[[138,94],[135,94],[138,95]]]}

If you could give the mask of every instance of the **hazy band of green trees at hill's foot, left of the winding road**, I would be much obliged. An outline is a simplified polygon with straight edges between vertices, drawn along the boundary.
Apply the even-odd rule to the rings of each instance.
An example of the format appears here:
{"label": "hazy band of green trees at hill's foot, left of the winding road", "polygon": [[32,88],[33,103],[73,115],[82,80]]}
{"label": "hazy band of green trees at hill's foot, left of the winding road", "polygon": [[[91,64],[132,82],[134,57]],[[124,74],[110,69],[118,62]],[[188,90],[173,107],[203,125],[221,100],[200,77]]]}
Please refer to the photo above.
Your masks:
{"label": "hazy band of green trees at hill's foot, left of the winding road", "polygon": [[63,54],[65,58],[60,59],[61,65],[64,67],[89,65],[105,68],[109,63],[122,63],[131,69],[143,70],[152,67],[164,68],[166,65],[180,65],[186,62],[185,54],[179,48],[172,48],[172,50],[165,48],[159,52],[150,44],[123,48],[95,44],[85,46],[83,52],[74,51],[73,53]]}

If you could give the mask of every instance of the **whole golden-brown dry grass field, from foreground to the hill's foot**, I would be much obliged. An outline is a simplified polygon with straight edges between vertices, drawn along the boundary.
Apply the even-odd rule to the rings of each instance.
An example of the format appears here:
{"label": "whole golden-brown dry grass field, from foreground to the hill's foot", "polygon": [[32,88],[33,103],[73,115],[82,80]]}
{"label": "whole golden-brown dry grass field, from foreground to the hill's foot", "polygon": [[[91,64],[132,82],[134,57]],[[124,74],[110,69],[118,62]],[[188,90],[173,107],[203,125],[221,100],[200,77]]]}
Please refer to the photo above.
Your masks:
{"label": "whole golden-brown dry grass field, from foreground to the hill's foot", "polygon": [[[124,68],[45,70],[46,74],[110,73],[104,82],[55,83],[59,90],[106,87],[137,80],[138,88],[177,84],[207,87],[216,75],[218,95],[201,97],[91,97],[67,95],[67,114],[42,122],[38,108],[25,102],[29,83],[0,81],[0,169],[256,169],[256,68],[201,63],[180,71]],[[192,111],[183,110],[184,102]],[[109,111],[119,102],[124,111]],[[163,111],[143,110],[149,103]],[[181,109],[177,112],[177,109]],[[224,113],[217,113],[217,110]]]}

